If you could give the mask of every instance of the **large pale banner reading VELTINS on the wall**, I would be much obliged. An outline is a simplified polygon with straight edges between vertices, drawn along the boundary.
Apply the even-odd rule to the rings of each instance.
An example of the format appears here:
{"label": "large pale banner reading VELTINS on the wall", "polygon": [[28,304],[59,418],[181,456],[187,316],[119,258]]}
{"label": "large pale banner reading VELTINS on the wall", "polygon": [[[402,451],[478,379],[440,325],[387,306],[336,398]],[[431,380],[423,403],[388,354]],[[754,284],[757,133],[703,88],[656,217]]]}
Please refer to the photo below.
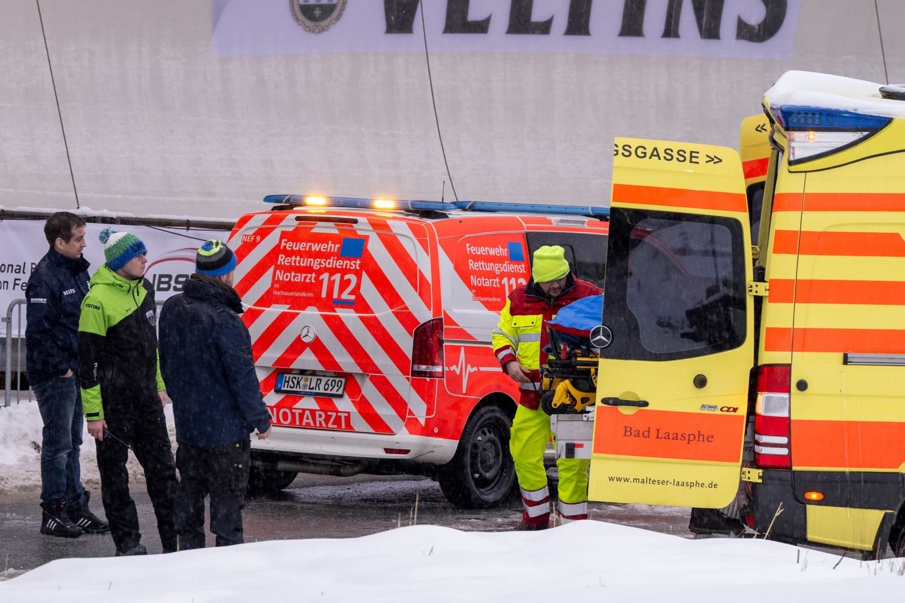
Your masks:
{"label": "large pale banner reading VELTINS on the wall", "polygon": [[[214,0],[214,54],[788,59],[799,0]],[[424,6],[424,29],[420,6]],[[655,91],[653,91],[655,92]],[[653,93],[652,92],[652,93]]]}

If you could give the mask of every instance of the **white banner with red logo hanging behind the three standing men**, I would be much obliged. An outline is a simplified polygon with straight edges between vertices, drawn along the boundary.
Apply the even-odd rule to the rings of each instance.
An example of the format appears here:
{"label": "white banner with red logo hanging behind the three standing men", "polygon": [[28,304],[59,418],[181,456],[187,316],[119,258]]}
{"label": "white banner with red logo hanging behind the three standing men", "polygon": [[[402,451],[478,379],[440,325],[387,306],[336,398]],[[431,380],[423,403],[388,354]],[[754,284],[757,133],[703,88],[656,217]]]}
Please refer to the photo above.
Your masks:
{"label": "white banner with red logo hanging behind the three standing men", "polygon": [[[154,285],[155,299],[166,300],[181,292],[191,273],[195,272],[195,252],[207,239],[226,241],[230,231],[204,228],[106,225],[89,223],[85,228],[83,252],[91,263],[88,272],[95,273],[104,263],[104,247],[98,240],[103,228],[110,226],[120,232],[138,236],[148,247],[148,265],[145,276]],[[44,238],[43,220],[4,220],[0,222],[0,312],[5,316],[14,300],[25,298],[25,286],[35,265],[47,253],[49,245]],[[24,305],[13,312],[14,335],[24,334]],[[21,311],[21,321],[19,312]],[[6,323],[0,323],[0,335],[6,334]]]}

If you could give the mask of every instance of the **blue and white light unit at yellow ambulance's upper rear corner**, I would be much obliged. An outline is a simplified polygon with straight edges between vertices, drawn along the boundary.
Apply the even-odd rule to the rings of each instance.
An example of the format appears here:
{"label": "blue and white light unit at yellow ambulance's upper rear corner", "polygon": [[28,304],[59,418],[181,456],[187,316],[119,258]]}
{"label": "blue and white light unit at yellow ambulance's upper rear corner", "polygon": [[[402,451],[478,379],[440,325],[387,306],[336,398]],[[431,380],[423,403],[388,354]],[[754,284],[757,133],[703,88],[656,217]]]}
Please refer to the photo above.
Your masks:
{"label": "blue and white light unit at yellow ambulance's upper rear corner", "polygon": [[839,109],[785,106],[772,110],[786,130],[789,165],[832,155],[885,128],[891,118]]}

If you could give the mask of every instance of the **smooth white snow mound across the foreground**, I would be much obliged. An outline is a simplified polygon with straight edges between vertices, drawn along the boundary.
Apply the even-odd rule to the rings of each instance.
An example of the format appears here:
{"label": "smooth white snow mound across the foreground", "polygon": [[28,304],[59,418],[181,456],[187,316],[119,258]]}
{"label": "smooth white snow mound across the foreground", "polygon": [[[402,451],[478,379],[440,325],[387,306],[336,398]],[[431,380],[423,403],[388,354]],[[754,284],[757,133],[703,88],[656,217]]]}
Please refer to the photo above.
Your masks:
{"label": "smooth white snow mound across the foreground", "polygon": [[408,526],[140,558],[56,560],[0,583],[29,603],[900,600],[905,560],[771,541],[689,541],[604,522],[542,532]]}

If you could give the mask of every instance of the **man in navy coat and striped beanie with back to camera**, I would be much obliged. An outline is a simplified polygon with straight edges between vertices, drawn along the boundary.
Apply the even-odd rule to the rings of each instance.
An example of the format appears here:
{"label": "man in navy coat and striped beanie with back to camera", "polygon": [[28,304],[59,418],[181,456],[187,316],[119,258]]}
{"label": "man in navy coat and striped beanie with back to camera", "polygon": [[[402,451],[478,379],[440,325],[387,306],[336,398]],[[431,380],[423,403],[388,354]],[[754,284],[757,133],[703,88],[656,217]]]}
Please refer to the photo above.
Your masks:
{"label": "man in navy coat and striped beanie with back to camera", "polygon": [[205,496],[216,545],[243,542],[249,435],[271,433],[254,372],[252,340],[233,289],[235,255],[207,241],[182,293],[160,311],[160,370],[176,422],[176,533],[180,550],[205,546]]}

